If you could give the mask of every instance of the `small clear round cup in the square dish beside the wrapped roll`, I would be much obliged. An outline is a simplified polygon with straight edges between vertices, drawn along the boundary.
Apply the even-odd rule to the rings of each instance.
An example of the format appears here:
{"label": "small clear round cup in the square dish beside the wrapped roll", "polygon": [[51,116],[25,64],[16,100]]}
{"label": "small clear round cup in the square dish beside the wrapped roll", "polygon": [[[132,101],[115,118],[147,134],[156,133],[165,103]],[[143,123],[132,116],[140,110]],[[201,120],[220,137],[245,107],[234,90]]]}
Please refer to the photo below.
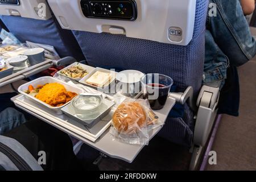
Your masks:
{"label": "small clear round cup in the square dish beside the wrapped roll", "polygon": [[96,114],[102,104],[103,97],[101,94],[81,93],[73,98],[71,105],[78,115]]}

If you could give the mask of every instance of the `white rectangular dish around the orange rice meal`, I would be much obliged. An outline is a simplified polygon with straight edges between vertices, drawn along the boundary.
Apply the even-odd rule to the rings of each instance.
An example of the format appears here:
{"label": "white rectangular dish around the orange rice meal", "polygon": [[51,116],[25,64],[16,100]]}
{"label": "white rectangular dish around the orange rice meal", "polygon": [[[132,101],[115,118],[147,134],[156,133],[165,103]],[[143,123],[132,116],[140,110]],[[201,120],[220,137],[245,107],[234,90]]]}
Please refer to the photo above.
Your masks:
{"label": "white rectangular dish around the orange rice meal", "polygon": [[23,94],[26,98],[28,98],[28,100],[34,101],[37,104],[40,104],[40,105],[46,107],[47,109],[50,109],[50,110],[54,111],[55,114],[60,115],[60,114],[63,114],[63,111],[61,111],[61,108],[64,107],[65,105],[68,105],[71,101],[67,102],[63,106],[52,107],[52,106],[44,103],[43,101],[40,101],[40,100],[38,100],[37,98],[35,98],[33,96],[30,96],[30,94],[25,93],[25,91],[28,89],[29,85],[32,85],[32,86],[36,87],[37,85],[44,85],[44,84],[53,83],[53,82],[57,82],[61,85],[64,85],[65,88],[67,89],[67,91],[75,92],[77,94],[80,94],[80,93],[83,92],[82,89],[77,88],[76,86],[69,85],[64,81],[57,80],[56,78],[53,78],[53,77],[50,77],[50,76],[40,77],[40,78],[37,78],[37,79],[32,80],[30,82],[27,82],[26,84],[23,84],[23,85],[19,86],[18,91],[19,91],[19,93]]}

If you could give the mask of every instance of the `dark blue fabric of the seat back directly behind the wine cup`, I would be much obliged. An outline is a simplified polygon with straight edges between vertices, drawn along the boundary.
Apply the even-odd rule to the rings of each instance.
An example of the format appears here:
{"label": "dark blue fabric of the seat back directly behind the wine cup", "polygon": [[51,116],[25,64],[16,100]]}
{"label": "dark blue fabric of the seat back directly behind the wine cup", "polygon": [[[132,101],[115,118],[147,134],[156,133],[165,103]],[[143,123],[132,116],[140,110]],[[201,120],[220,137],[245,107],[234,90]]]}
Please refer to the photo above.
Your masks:
{"label": "dark blue fabric of the seat back directly behind the wine cup", "polygon": [[[197,0],[193,39],[188,46],[107,33],[73,31],[73,34],[89,65],[162,73],[174,79],[177,92],[183,92],[187,86],[193,86],[197,96],[203,76],[207,9],[208,1]],[[190,146],[193,127],[193,113],[186,105],[183,117],[168,118],[160,135],[172,142]]]}

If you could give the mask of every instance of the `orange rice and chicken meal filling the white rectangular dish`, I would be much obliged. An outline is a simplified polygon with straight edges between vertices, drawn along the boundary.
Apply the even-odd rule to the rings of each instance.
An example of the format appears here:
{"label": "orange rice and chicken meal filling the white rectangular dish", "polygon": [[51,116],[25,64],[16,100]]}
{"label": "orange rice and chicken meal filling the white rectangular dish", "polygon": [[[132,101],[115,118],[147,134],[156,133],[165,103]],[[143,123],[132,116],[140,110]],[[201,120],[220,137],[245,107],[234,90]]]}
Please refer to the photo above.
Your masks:
{"label": "orange rice and chicken meal filling the white rectangular dish", "polygon": [[62,106],[77,96],[77,93],[68,92],[59,83],[38,85],[36,88],[30,85],[26,93],[53,107]]}

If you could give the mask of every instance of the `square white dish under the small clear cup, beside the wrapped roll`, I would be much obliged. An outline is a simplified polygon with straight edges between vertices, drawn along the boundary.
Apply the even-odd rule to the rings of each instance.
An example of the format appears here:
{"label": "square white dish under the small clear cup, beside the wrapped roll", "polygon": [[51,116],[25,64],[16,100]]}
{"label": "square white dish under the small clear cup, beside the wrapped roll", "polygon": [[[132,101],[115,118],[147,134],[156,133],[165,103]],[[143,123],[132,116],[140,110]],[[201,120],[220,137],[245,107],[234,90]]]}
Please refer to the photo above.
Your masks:
{"label": "square white dish under the small clear cup, beside the wrapped roll", "polygon": [[114,104],[115,103],[112,101],[103,99],[101,106],[98,108],[97,114],[84,115],[83,117],[76,115],[76,111],[75,109],[73,109],[72,104],[66,105],[65,107],[61,108],[61,110],[72,119],[75,119],[75,121],[80,122],[82,125],[91,128],[96,125],[96,123],[101,121],[101,119],[104,118],[111,111]]}

